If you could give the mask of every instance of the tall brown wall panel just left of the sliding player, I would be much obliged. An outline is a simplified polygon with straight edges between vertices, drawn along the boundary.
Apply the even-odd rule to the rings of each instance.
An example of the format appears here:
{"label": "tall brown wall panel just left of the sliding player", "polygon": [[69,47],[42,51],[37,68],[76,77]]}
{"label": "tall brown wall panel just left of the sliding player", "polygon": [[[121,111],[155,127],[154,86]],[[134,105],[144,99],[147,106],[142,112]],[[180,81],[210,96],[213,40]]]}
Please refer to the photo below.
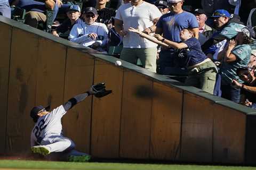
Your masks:
{"label": "tall brown wall panel just left of the sliding player", "polygon": [[30,132],[34,123],[29,113],[35,106],[38,36],[13,28],[11,48],[7,151],[30,152]]}

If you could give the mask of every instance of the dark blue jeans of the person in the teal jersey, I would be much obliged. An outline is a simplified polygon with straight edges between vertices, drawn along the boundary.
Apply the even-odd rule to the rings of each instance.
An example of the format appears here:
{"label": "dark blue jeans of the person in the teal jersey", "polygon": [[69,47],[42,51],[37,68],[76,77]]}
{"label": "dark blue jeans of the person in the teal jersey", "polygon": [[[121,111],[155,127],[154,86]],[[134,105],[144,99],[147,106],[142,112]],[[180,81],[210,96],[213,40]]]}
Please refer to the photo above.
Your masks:
{"label": "dark blue jeans of the person in the teal jersey", "polygon": [[240,103],[240,98],[241,98],[241,94],[240,91],[241,89],[236,89],[230,85],[221,85],[221,97],[234,101],[235,103]]}

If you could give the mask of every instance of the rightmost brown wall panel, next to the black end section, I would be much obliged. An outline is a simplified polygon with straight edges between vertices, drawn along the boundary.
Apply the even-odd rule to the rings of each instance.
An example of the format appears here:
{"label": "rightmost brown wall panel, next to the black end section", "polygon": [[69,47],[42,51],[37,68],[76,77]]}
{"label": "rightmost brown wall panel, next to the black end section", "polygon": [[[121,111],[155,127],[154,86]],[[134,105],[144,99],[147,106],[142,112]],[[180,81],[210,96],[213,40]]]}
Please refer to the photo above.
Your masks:
{"label": "rightmost brown wall panel, next to the black end section", "polygon": [[246,115],[234,109],[214,105],[213,162],[244,162]]}

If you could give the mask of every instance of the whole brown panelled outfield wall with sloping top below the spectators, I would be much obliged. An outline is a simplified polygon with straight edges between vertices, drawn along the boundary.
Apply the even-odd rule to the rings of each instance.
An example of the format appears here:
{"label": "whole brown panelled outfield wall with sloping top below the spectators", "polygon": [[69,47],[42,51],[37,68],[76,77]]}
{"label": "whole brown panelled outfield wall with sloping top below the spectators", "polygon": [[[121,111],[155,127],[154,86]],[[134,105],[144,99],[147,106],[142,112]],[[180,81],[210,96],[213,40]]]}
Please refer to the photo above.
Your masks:
{"label": "whole brown panelled outfield wall with sloping top below the spectators", "polygon": [[29,152],[35,105],[61,105],[78,150],[100,158],[255,164],[255,110],[0,16],[0,153]]}

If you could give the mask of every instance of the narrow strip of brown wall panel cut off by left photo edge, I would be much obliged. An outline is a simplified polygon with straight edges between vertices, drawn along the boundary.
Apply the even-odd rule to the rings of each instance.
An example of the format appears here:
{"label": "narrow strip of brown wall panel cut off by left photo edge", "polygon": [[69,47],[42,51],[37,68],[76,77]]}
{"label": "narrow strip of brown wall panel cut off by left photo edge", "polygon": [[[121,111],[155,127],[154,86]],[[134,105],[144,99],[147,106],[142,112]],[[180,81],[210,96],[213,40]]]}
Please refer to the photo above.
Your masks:
{"label": "narrow strip of brown wall panel cut off by left photo edge", "polygon": [[9,80],[10,48],[12,27],[0,22],[0,155],[5,152],[6,141],[6,116],[7,116],[7,92]]}

